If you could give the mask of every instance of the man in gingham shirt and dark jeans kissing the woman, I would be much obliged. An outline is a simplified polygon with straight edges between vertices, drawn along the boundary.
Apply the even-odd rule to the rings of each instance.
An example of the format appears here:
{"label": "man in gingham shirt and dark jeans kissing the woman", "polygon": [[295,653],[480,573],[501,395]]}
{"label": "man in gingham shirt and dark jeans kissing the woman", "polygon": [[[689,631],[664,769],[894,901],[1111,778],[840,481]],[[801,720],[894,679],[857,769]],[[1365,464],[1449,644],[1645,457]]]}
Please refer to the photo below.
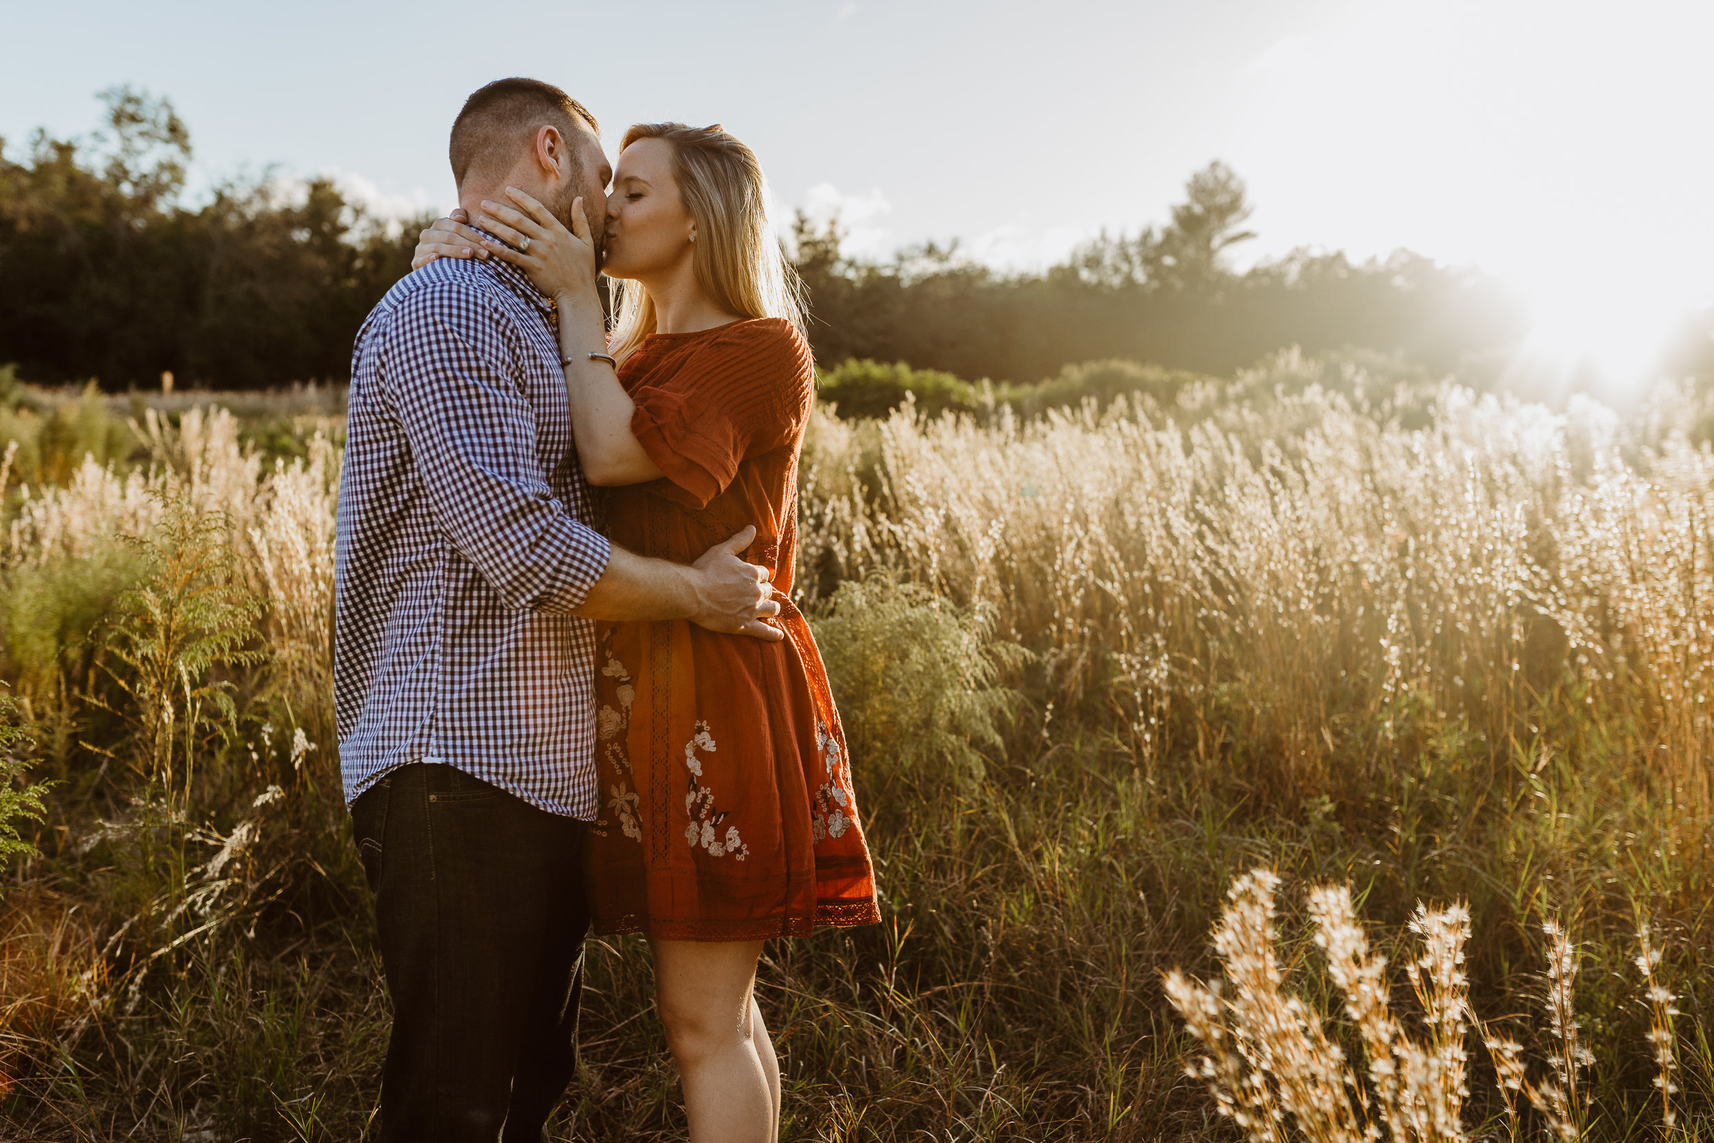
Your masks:
{"label": "man in gingham shirt and dark jeans kissing the woman", "polygon": [[[518,187],[605,218],[595,118],[530,79],[452,123],[459,204]],[[598,233],[598,226],[596,226]],[[596,814],[595,619],[776,639],[746,528],[694,566],[591,528],[554,307],[499,259],[440,259],[358,332],[339,485],[334,689],[394,1023],[381,1138],[530,1140],[576,1068]],[[590,346],[600,351],[605,346]]]}

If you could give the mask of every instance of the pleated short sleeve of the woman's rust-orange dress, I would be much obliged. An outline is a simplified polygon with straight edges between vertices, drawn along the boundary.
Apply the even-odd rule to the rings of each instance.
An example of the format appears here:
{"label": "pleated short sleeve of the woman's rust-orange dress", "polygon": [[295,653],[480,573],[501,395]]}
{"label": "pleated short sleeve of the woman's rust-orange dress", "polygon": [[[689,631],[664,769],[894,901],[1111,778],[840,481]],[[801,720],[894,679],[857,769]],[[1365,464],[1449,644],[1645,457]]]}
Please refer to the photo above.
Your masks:
{"label": "pleated short sleeve of the woman's rust-orange dress", "polygon": [[809,344],[782,319],[742,322],[670,375],[631,391],[631,432],[667,480],[706,506],[749,456],[795,439],[814,392]]}

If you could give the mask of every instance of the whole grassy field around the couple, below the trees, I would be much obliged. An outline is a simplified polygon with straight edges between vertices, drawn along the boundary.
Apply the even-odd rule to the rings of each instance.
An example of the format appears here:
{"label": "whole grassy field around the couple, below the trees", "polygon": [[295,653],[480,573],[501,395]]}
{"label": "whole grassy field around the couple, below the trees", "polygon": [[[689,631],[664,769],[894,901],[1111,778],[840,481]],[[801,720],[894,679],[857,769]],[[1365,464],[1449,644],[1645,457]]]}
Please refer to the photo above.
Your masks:
{"label": "whole grassy field around the couple, below the trees", "polygon": [[[1337,380],[1280,355],[1030,420],[816,415],[800,601],[884,924],[768,949],[785,1138],[1241,1138],[1174,999],[1253,1138],[1356,1138],[1313,1112],[1345,1069],[1383,1138],[1663,1138],[1663,1045],[1675,1133],[1714,1134],[1709,399]],[[305,401],[0,408],[0,819],[39,850],[0,901],[5,1138],[369,1129],[341,422]],[[591,966],[562,1138],[682,1136],[646,948]],[[1388,1095],[1364,1050],[1419,1074]]]}

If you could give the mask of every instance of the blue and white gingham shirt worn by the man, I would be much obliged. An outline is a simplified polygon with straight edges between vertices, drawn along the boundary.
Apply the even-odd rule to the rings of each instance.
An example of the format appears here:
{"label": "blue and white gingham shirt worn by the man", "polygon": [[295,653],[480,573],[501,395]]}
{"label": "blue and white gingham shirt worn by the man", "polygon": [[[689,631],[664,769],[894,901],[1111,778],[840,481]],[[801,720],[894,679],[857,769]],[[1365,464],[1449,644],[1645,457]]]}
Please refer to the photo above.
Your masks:
{"label": "blue and white gingham shirt worn by the man", "polygon": [[552,307],[497,259],[439,259],[357,336],[334,555],[346,802],[447,763],[593,819],[590,526]]}

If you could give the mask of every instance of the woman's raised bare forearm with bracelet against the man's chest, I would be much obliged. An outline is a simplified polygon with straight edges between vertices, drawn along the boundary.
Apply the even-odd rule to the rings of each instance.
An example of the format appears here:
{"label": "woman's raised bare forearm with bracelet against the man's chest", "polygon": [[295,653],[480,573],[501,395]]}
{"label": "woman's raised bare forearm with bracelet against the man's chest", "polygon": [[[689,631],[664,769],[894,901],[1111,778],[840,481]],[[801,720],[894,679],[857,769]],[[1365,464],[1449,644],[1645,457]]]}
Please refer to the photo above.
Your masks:
{"label": "woman's raised bare forearm with bracelet against the man's chest", "polygon": [[607,329],[600,302],[562,295],[559,305],[559,350],[566,362],[566,399],[571,401],[571,432],[578,442],[583,475],[593,485],[634,485],[658,480],[660,468],[631,432],[636,404],[619,384],[619,374],[590,353],[605,353]]}

